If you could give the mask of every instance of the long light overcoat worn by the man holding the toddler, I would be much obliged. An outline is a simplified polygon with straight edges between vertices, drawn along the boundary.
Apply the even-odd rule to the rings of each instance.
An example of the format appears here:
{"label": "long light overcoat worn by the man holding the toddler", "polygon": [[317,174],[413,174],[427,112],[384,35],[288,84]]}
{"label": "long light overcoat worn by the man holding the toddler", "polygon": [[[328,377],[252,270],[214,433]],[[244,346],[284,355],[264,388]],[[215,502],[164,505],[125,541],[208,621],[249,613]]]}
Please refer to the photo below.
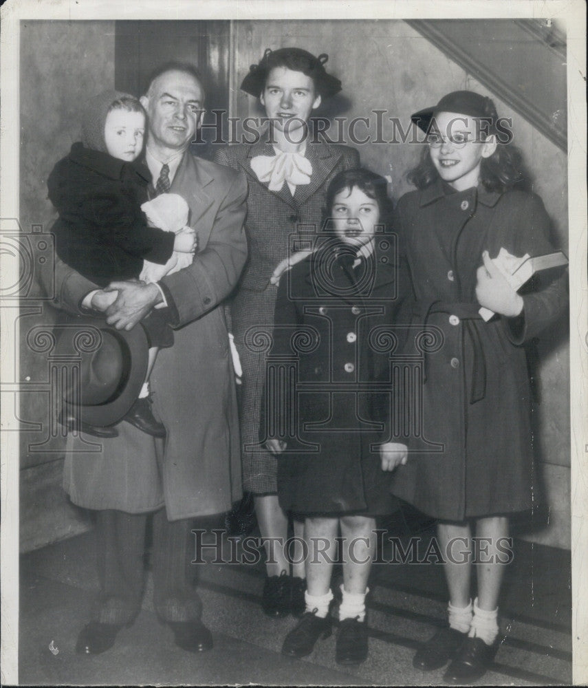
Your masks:
{"label": "long light overcoat worn by the man holding the toddler", "polygon": [[[175,344],[160,351],[151,374],[166,439],[121,422],[119,436],[100,439],[94,451],[78,451],[79,444],[66,451],[64,482],[79,506],[128,513],[165,506],[175,520],[221,513],[241,498],[237,400],[222,303],[246,260],[247,189],[243,175],[186,152],[171,191],[188,203],[198,252],[193,264],[160,282],[175,328]],[[56,304],[73,313],[96,288],[61,261],[55,281]]]}

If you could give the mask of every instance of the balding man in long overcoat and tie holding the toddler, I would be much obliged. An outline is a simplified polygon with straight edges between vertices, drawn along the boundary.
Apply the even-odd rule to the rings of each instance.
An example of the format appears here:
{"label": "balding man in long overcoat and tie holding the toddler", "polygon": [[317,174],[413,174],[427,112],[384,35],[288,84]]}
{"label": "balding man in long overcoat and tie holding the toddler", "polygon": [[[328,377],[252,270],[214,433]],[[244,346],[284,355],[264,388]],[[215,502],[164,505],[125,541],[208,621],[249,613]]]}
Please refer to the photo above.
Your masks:
{"label": "balding man in long overcoat and tie holding the toddler", "polygon": [[157,284],[120,281],[107,290],[56,264],[55,300],[63,310],[106,312],[109,324],[130,330],[163,303],[175,328],[173,347],[160,352],[151,375],[165,444],[121,422],[118,436],[101,440],[100,453],[66,452],[66,491],[74,504],[96,510],[100,594],[78,636],[76,650],[83,654],[109,649],[140,611],[149,513],[157,615],[179,647],[199,652],[213,646],[190,573],[190,530],[193,517],[226,511],[241,497],[234,375],[221,303],[246,260],[247,186],[241,173],[188,150],[202,125],[203,100],[197,72],[180,63],[155,72],[141,98],[149,117],[145,162],[153,193],[169,190],[188,202],[198,238],[193,264]]}

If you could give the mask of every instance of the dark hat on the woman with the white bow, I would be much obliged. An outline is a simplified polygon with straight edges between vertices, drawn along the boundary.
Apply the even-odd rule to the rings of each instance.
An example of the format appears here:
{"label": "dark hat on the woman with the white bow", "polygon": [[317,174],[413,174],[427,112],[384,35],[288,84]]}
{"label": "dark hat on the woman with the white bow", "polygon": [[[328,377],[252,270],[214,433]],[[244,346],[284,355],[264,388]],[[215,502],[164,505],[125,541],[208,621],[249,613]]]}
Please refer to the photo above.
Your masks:
{"label": "dark hat on the woman with the white bow", "polygon": [[330,98],[341,90],[341,82],[327,74],[325,63],[329,56],[325,53],[315,57],[299,47],[281,47],[279,50],[265,50],[257,65],[251,65],[249,74],[243,79],[241,90],[259,98],[268,74],[274,67],[287,67],[294,72],[303,72],[314,81],[314,87],[322,98]]}

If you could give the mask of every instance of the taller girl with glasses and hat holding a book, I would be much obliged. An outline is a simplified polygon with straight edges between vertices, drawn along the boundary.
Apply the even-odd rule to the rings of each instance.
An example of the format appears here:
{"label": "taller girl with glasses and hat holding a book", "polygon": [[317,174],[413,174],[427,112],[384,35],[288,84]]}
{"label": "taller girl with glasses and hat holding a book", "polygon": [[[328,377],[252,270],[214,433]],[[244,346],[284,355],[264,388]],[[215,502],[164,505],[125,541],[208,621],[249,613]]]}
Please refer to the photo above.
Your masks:
{"label": "taller girl with glasses and hat holding a book", "polygon": [[[508,515],[532,506],[536,484],[521,345],[564,312],[566,278],[540,273],[521,296],[491,260],[501,248],[512,257],[554,251],[541,199],[514,190],[521,159],[500,142],[507,132],[492,100],[454,92],[412,119],[428,134],[428,150],[409,175],[418,191],[400,199],[395,227],[411,268],[413,323],[442,336],[426,355],[422,386],[428,447],[396,469],[392,491],[439,519],[446,560],[448,627],[413,663],[435,669],[453,659],[446,681],[468,684],[497,649]],[[480,306],[494,312],[490,321]],[[473,534],[487,538],[488,549],[485,540],[472,605]]]}

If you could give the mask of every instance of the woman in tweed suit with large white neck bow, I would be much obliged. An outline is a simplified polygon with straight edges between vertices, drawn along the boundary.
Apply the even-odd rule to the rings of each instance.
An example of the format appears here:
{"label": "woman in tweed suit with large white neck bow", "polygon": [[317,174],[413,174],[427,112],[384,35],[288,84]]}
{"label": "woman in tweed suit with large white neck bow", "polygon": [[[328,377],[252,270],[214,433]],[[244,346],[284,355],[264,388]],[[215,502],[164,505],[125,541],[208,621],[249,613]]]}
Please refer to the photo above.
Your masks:
{"label": "woman in tweed suit with large white neck bow", "polygon": [[[243,488],[254,494],[261,536],[283,543],[288,515],[278,502],[276,459],[259,444],[265,353],[255,345],[255,332],[273,325],[277,287],[270,280],[279,264],[301,248],[296,241],[301,228],[308,233],[310,223],[320,218],[329,181],[359,164],[356,150],[306,136],[313,111],[341,89],[340,81],[325,71],[326,61],[326,55],[316,58],[295,47],[266,50],[243,79],[241,89],[259,98],[270,118],[269,129],[258,143],[228,147],[215,158],[245,171],[249,184],[249,258],[230,305],[232,333],[243,368]],[[303,524],[295,520],[294,530],[302,535]],[[303,563],[293,566],[291,573],[283,546],[272,548],[263,588],[265,613],[301,614],[304,590]]]}

